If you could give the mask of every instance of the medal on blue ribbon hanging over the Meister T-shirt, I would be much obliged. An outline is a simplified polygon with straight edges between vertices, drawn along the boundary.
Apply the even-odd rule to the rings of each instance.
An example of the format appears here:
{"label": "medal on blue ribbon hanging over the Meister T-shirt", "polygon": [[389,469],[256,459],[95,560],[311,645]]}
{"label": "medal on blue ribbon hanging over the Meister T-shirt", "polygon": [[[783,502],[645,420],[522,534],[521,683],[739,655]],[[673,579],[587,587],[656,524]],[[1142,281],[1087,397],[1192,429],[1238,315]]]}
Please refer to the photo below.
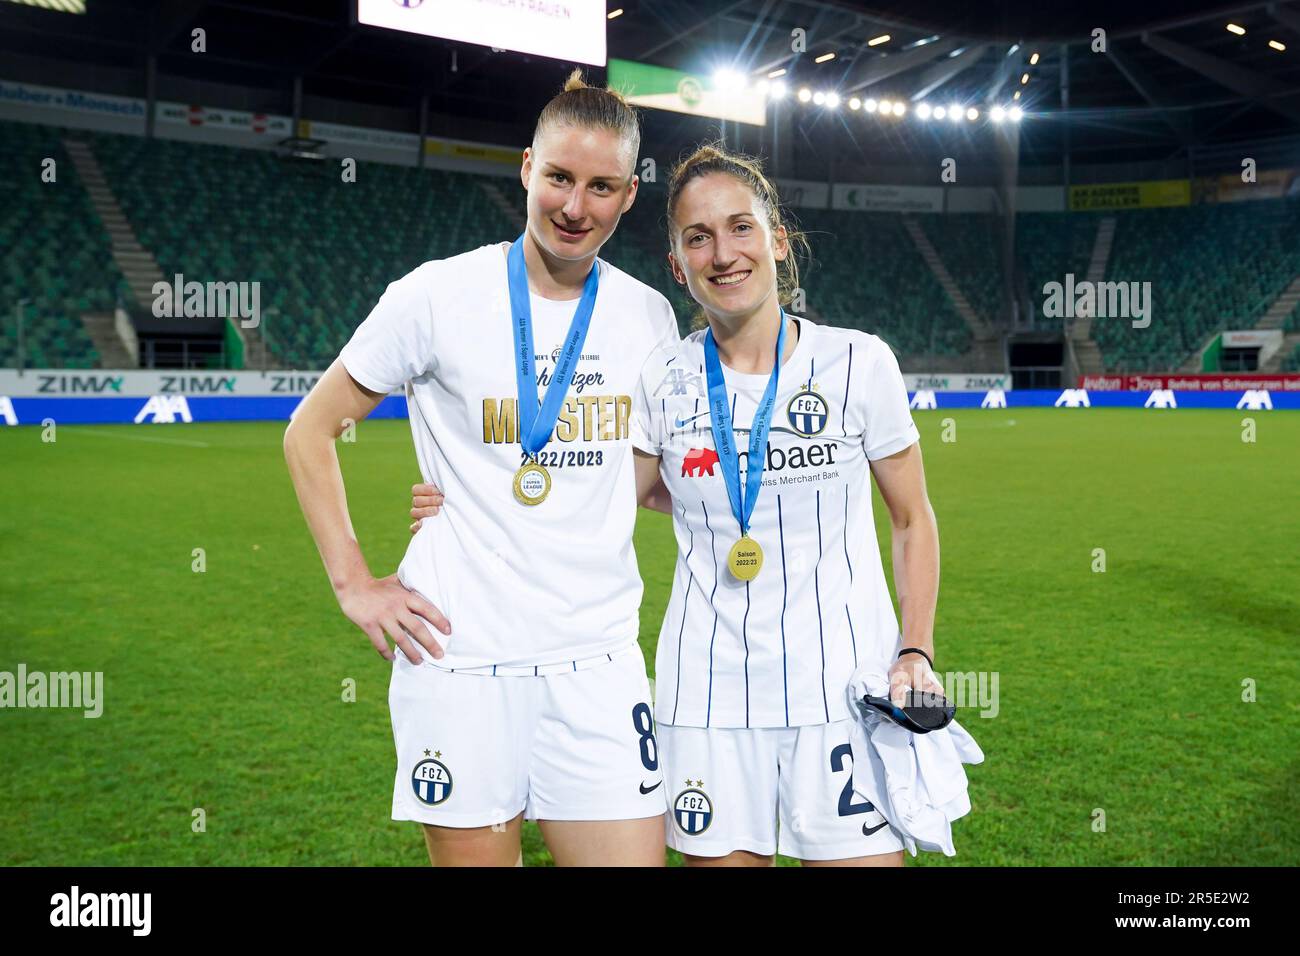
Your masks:
{"label": "medal on blue ribbon hanging over the Meister T-shirt", "polygon": [[541,407],[537,405],[537,369],[533,364],[533,307],[528,298],[528,267],[524,263],[524,237],[511,243],[506,256],[510,280],[511,330],[515,336],[515,385],[519,393],[519,444],[524,463],[515,471],[515,499],[521,505],[541,505],[551,493],[551,475],[537,460],[537,453],[550,441],[555,419],[559,418],[564,394],[573,381],[573,369],[582,354],[586,330],[595,308],[595,294],[601,286],[599,268],[592,261],[592,271],[582,286],[582,298],[569,323],[564,346],[555,362],[555,377],[546,386]]}

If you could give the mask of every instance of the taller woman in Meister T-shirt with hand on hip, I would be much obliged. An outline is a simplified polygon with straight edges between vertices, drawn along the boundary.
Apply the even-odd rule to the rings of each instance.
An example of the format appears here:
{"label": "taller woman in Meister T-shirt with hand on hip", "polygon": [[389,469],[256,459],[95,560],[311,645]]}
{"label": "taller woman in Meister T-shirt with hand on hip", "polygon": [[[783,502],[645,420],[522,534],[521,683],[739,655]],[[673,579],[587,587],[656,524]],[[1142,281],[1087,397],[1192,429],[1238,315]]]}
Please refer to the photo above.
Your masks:
{"label": "taller woman in Meister T-shirt with hand on hip", "polygon": [[[628,419],[677,324],[597,258],[638,148],[621,96],[572,74],[523,155],[523,235],[393,282],[285,434],[339,606],[391,661],[393,818],[424,825],[436,865],[514,864],[525,813],[560,865],[663,865]],[[403,386],[454,503],[376,580],[334,438]]]}

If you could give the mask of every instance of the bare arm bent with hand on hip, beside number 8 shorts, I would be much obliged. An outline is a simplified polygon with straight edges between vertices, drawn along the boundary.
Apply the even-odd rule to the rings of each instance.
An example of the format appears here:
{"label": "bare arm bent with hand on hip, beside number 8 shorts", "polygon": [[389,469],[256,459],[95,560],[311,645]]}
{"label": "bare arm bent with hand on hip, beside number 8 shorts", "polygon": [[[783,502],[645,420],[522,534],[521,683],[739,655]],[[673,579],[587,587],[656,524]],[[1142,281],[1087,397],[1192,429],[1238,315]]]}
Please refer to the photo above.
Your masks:
{"label": "bare arm bent with hand on hip, beside number 8 shorts", "polygon": [[416,615],[445,635],[451,633],[451,624],[437,607],[404,588],[395,574],[381,579],[370,574],[347,511],[334,441],[348,421],[361,421],[381,401],[382,394],[360,386],[335,359],[285,429],[285,460],[343,614],[389,661],[395,654],[385,633],[410,661],[422,657],[411,643],[412,637],[439,658],[441,645]]}

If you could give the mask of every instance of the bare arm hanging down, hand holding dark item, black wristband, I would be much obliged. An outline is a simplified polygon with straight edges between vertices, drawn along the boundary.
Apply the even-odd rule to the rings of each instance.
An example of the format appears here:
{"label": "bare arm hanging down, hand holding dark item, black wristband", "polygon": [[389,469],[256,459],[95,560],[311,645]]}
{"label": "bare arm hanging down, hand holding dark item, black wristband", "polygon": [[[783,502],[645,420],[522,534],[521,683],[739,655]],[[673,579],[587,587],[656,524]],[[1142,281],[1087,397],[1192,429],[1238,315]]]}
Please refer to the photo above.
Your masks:
{"label": "bare arm hanging down, hand holding dark item, black wristband", "polygon": [[[920,445],[909,445],[871,463],[880,497],[889,509],[894,591],[902,645],[935,657],[935,606],[939,602],[939,523],[926,492]],[[906,688],[942,691],[920,654],[904,654],[889,670],[889,697],[902,704]]]}

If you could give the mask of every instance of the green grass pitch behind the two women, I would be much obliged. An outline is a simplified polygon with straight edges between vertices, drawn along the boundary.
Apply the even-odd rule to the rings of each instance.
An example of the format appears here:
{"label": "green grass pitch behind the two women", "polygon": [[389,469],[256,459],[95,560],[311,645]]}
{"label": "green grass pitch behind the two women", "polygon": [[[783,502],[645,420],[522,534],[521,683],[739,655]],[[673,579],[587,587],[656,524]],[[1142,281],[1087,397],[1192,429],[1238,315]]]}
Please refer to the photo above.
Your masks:
{"label": "green grass pitch behind the two women", "polygon": [[[1254,442],[1243,415],[916,412],[936,663],[996,671],[1000,698],[961,715],[987,760],[958,856],[909,865],[1295,862],[1300,414],[1254,412]],[[99,719],[0,710],[0,864],[426,864],[417,826],[389,819],[389,666],[334,602],[282,432],[0,429],[0,670],[105,675]],[[408,425],[363,423],[339,455],[389,574],[419,477]],[[879,496],[876,523],[888,542]],[[637,551],[653,665],[666,516],[641,512]],[[525,860],[549,862],[532,825]]]}

